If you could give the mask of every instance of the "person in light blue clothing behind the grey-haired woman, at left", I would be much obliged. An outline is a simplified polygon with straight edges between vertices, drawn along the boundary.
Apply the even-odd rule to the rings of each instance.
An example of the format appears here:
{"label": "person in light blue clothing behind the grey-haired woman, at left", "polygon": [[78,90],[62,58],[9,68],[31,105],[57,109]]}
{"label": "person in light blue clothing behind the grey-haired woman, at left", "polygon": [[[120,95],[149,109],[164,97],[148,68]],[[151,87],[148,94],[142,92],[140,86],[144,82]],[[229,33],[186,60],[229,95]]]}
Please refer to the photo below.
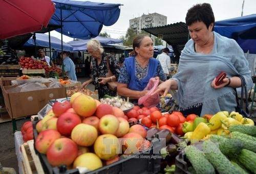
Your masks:
{"label": "person in light blue clothing behind the grey-haired woman, at left", "polygon": [[71,78],[73,81],[77,81],[76,79],[76,67],[74,62],[70,58],[70,53],[63,51],[60,55],[63,59],[64,69],[67,72],[67,76]]}

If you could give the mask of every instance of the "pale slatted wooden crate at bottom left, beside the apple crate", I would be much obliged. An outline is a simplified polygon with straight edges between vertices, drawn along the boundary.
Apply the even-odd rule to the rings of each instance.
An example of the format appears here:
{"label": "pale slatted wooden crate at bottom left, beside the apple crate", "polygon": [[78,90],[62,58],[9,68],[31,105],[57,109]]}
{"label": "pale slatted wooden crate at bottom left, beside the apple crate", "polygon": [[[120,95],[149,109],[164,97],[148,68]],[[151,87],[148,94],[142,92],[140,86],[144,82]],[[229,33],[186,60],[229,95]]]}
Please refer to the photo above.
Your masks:
{"label": "pale slatted wooden crate at bottom left, beside the apple crate", "polygon": [[26,143],[22,144],[21,151],[23,156],[22,167],[23,173],[32,174],[32,173],[45,173],[42,169],[41,162],[39,157],[36,155],[34,150],[34,140],[29,140]]}

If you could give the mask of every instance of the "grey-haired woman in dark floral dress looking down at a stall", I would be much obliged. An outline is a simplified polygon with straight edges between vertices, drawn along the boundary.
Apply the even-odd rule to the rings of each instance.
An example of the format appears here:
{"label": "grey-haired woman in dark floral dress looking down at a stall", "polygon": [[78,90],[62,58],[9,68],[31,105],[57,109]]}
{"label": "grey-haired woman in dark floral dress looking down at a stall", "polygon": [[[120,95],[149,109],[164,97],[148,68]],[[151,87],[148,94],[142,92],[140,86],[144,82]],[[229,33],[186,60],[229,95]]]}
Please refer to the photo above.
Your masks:
{"label": "grey-haired woman in dark floral dress looking down at a stall", "polygon": [[[91,79],[82,84],[86,88],[93,83],[95,90],[98,90],[99,99],[105,94],[116,96],[116,91],[110,90],[108,82],[117,81],[120,73],[120,66],[115,56],[106,54],[97,39],[91,39],[87,43],[87,51],[91,54]],[[109,70],[112,76],[109,77]]]}

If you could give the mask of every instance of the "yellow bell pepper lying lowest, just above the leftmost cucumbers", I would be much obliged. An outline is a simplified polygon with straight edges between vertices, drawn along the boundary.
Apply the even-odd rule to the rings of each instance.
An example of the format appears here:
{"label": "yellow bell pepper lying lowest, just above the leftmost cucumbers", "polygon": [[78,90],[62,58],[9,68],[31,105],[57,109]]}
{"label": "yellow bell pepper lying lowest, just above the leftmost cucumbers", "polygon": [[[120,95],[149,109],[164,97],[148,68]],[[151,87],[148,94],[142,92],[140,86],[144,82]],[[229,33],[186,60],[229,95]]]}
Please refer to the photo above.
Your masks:
{"label": "yellow bell pepper lying lowest, just above the leftmost cucumbers", "polygon": [[191,143],[198,142],[202,138],[204,138],[205,135],[210,133],[210,128],[208,125],[204,122],[200,122],[199,125],[194,130],[192,136],[191,136]]}

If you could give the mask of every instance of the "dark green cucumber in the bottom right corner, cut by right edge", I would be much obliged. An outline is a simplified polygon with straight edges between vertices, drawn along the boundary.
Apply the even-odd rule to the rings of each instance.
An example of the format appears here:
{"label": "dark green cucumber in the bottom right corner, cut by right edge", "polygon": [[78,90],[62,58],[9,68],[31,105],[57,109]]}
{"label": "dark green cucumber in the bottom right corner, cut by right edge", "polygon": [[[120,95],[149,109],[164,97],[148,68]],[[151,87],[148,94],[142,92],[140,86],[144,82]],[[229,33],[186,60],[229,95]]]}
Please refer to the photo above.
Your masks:
{"label": "dark green cucumber in the bottom right corner, cut by right edge", "polygon": [[256,173],[256,153],[243,149],[238,156],[239,162],[241,162],[248,170]]}

